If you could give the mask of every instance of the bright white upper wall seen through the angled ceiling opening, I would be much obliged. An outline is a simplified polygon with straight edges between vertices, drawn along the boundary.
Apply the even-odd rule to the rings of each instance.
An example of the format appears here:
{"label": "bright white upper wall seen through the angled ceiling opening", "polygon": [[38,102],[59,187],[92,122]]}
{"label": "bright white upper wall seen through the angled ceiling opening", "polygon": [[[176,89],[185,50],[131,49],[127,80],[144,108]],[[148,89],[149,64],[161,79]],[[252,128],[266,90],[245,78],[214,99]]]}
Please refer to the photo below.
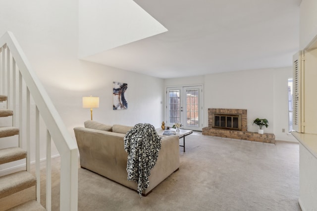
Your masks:
{"label": "bright white upper wall seen through the angled ceiling opening", "polygon": [[166,32],[133,0],[79,0],[79,57]]}

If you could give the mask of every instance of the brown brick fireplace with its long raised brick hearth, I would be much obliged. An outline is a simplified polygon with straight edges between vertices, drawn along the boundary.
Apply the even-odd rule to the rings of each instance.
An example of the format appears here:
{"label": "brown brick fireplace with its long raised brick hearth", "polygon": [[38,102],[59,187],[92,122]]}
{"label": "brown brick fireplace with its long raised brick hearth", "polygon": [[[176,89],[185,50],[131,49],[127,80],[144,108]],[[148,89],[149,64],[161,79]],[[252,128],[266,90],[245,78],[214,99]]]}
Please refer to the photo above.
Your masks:
{"label": "brown brick fireplace with its long raised brick hearth", "polygon": [[203,135],[275,143],[272,133],[247,131],[247,121],[246,109],[209,108],[208,127],[203,128]]}

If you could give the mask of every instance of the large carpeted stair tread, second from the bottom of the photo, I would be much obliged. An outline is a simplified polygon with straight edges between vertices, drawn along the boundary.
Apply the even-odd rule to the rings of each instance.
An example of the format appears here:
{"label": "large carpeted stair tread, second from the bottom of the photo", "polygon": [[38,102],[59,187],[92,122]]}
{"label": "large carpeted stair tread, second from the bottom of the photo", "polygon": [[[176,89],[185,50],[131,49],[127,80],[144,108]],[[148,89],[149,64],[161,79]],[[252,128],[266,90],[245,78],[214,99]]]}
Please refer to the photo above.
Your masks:
{"label": "large carpeted stair tread, second from the bottom of the photo", "polygon": [[36,185],[36,178],[22,170],[0,177],[0,199]]}

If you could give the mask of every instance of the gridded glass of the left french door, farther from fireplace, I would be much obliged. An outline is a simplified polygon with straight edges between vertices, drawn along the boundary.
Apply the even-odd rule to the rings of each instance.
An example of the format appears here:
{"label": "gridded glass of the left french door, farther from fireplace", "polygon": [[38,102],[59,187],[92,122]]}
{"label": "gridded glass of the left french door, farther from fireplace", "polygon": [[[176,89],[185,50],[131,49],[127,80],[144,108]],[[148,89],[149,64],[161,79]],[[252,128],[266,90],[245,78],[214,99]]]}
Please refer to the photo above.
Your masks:
{"label": "gridded glass of the left french door, farther from fireplace", "polygon": [[169,93],[169,124],[180,122],[180,91],[170,90]]}

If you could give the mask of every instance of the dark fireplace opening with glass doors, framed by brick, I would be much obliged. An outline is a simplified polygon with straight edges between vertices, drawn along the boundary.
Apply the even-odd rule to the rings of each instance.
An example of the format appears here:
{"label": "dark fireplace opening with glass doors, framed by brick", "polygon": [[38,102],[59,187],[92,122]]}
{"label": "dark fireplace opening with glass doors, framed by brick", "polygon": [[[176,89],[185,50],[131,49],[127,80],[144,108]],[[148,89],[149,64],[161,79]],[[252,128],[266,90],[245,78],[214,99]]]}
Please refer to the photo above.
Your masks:
{"label": "dark fireplace opening with glass doors, framed by brick", "polygon": [[241,115],[213,114],[214,128],[241,130]]}

